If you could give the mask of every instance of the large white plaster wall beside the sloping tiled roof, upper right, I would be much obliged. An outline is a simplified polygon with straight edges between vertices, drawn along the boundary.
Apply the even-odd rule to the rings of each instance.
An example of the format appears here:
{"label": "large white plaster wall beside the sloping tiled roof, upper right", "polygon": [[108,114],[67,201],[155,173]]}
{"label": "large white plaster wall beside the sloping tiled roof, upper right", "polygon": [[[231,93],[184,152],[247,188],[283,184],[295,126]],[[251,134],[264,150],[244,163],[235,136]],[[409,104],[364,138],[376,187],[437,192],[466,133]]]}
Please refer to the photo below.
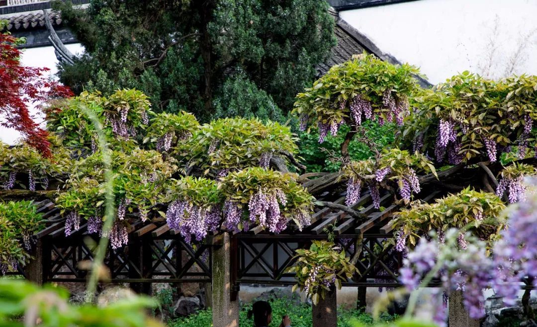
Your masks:
{"label": "large white plaster wall beside the sloping tiled roof, upper right", "polygon": [[535,0],[420,0],[339,15],[433,84],[464,70],[503,77],[512,60],[514,73],[537,75]]}

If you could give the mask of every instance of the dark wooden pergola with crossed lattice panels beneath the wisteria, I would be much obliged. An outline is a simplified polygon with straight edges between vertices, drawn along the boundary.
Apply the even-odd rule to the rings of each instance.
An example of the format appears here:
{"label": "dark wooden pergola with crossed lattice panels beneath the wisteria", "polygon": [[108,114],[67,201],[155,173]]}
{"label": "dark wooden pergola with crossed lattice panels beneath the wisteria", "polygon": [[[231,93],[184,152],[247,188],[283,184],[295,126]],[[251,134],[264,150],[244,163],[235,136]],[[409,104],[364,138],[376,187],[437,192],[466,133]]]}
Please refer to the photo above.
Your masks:
{"label": "dark wooden pergola with crossed lattice panels beneath the wisteria", "polygon": [[[444,194],[433,189],[420,193],[426,202]],[[336,205],[345,201],[344,193],[317,198]],[[234,318],[226,318],[224,312],[230,312],[230,307],[238,309],[241,285],[295,284],[294,275],[286,272],[296,260],[295,250],[309,248],[314,239],[327,239],[330,232],[347,256],[357,258],[354,262],[359,273],[343,286],[358,287],[358,301],[365,306],[367,287],[400,286],[397,271],[402,265],[402,255],[392,245],[384,245],[384,241],[394,237],[391,217],[400,208],[394,200],[393,194],[385,193],[381,196],[381,208],[375,209],[367,193],[351,206],[359,217],[337,208],[317,207],[311,225],[303,230],[289,222],[281,234],[254,227],[247,232],[210,235],[205,242],[195,245],[186,243],[178,232],[170,230],[162,218],[148,222],[133,219],[128,244],[108,250],[105,265],[110,280],[106,282],[129,283],[136,292],[146,294],[151,292],[151,283],[210,283],[214,326],[233,325]],[[19,274],[37,284],[86,282],[88,271],[81,263],[93,259],[92,243],[98,241],[98,235],[89,234],[87,224],[82,224],[66,236],[64,218],[53,201],[46,199],[36,205],[47,222],[46,228],[33,236],[32,259]],[[315,307],[317,310],[335,308],[335,296],[334,292],[333,299],[328,297]],[[222,317],[223,321],[217,321]]]}

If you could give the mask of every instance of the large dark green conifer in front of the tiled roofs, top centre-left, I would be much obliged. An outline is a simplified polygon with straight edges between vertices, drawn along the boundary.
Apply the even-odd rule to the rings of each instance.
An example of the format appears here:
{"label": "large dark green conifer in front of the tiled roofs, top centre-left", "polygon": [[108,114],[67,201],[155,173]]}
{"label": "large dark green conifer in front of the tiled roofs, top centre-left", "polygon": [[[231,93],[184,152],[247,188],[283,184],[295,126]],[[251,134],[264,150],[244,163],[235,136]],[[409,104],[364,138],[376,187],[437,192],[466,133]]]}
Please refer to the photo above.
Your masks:
{"label": "large dark green conifer in front of the tiled roofs, top centre-left", "polygon": [[[202,121],[215,111],[257,113],[259,99],[277,105],[262,111],[266,118],[282,119],[335,45],[320,0],[92,0],[85,10],[55,8],[86,49],[74,66],[61,67],[63,83],[105,94],[137,88],[155,111],[185,108]],[[252,107],[237,107],[229,90],[259,94],[245,104]]]}

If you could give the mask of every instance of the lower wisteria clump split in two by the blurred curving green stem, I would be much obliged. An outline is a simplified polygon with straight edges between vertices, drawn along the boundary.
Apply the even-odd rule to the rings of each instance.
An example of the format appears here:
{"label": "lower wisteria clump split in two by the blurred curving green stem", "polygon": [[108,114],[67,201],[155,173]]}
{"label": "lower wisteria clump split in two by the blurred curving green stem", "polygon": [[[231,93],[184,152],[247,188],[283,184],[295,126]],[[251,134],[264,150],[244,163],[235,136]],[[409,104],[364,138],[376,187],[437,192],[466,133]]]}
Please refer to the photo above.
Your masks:
{"label": "lower wisteria clump split in two by the blurred curving green stem", "polygon": [[[117,213],[110,232],[112,246],[128,241],[127,214],[137,212],[141,220],[148,219],[151,207],[161,202],[164,183],[176,171],[173,159],[163,159],[154,150],[133,150],[129,154],[111,152],[114,194]],[[77,161],[67,181],[67,191],[59,193],[56,206],[66,215],[66,235],[70,235],[88,220],[88,232],[102,235],[105,173],[100,152]]]}

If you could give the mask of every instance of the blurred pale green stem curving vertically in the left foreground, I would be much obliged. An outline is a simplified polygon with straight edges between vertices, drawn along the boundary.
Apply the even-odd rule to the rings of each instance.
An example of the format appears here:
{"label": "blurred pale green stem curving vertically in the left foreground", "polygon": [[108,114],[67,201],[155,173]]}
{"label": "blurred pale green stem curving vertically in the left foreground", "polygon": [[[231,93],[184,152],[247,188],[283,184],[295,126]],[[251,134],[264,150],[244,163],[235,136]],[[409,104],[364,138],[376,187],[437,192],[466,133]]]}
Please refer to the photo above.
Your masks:
{"label": "blurred pale green stem curving vertically in the left foreground", "polygon": [[97,114],[88,109],[88,107],[81,106],[82,112],[88,116],[95,126],[99,141],[99,150],[103,154],[104,165],[104,177],[105,177],[105,217],[103,224],[103,236],[100,238],[99,244],[93,256],[93,264],[91,265],[90,277],[88,279],[88,287],[86,287],[86,302],[92,302],[95,292],[97,290],[97,282],[99,281],[99,271],[104,263],[106,255],[106,249],[108,248],[108,237],[110,236],[110,230],[112,229],[115,217],[114,206],[114,180],[111,169],[112,158],[110,156],[110,149],[106,144],[106,135],[103,132],[103,125],[101,124]]}

